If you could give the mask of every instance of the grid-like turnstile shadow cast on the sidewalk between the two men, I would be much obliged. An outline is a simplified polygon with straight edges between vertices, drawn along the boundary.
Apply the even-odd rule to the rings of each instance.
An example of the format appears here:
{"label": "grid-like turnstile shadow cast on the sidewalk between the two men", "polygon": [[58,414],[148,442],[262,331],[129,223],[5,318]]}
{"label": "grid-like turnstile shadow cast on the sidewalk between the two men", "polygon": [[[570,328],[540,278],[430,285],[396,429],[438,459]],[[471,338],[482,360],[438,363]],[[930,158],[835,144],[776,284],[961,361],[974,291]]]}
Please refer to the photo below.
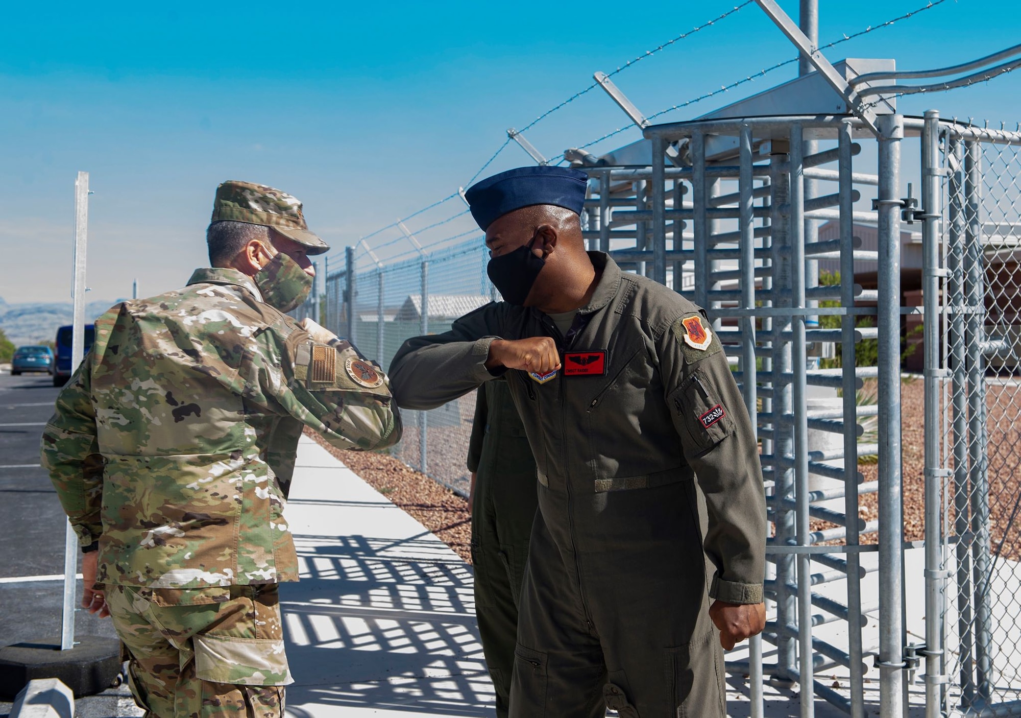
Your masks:
{"label": "grid-like turnstile shadow cast on the sidewalk between the two men", "polygon": [[295,718],[343,710],[493,715],[472,573],[435,540],[301,536],[282,587]]}

